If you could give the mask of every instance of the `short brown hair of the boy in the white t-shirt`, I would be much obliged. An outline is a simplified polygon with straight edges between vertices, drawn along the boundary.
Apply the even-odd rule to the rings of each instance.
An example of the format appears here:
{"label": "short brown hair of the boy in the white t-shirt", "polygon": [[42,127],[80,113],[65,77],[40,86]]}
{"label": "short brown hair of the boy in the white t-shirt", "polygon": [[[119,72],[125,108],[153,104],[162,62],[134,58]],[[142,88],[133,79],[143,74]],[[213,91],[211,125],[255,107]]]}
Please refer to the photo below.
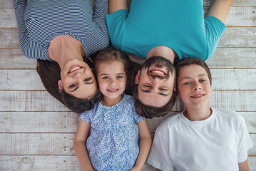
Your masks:
{"label": "short brown hair of the boy in the white t-shirt", "polygon": [[[178,76],[180,73],[180,69],[183,68],[183,66],[190,66],[190,65],[198,65],[205,69],[208,78],[210,80],[210,85],[212,85],[212,75],[210,74],[210,69],[208,68],[208,65],[200,58],[184,58],[177,63],[175,63],[175,69],[176,69],[176,81],[178,81]],[[176,86],[178,88],[178,86]]]}

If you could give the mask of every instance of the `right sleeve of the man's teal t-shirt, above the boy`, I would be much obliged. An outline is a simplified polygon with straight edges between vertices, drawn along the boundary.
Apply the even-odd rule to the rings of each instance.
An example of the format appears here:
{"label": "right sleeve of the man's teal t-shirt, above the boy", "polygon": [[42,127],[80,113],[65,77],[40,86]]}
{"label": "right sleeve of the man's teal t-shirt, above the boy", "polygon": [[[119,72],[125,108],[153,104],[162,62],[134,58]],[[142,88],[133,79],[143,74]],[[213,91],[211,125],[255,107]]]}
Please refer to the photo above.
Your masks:
{"label": "right sleeve of the man's teal t-shirt, above the boy", "polygon": [[226,28],[225,24],[223,24],[222,21],[220,21],[216,17],[207,16],[205,18],[205,34],[206,34],[206,41],[208,43],[207,58],[210,58],[210,56],[213,55],[215,49],[217,48],[217,44],[220,41],[220,37],[225,31],[225,28]]}

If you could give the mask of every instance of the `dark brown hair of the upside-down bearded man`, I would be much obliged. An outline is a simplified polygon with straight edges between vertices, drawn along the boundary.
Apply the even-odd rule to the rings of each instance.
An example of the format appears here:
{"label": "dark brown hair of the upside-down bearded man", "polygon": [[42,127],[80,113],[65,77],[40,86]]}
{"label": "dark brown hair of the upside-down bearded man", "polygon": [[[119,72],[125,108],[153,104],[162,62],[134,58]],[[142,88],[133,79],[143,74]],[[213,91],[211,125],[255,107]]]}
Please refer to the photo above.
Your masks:
{"label": "dark brown hair of the upside-down bearded man", "polygon": [[138,100],[138,84],[133,85],[133,98],[135,100],[134,107],[136,113],[149,119],[167,115],[170,110],[173,109],[173,105],[175,104],[176,100],[175,93],[173,93],[168,103],[163,107],[158,108],[150,105],[144,105],[140,102],[140,100]]}

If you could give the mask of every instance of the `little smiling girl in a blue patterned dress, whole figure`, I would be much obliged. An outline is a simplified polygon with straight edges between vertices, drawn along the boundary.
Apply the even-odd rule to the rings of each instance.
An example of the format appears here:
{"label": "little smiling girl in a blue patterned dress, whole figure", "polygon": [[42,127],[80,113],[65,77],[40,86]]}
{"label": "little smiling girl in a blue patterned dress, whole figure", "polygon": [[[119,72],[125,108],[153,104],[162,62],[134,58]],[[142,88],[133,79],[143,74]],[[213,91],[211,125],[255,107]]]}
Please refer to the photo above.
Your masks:
{"label": "little smiling girl in a blue patterned dress, whole figure", "polygon": [[114,48],[99,52],[94,71],[103,100],[81,113],[74,148],[83,170],[141,170],[151,145],[145,118],[125,95],[128,57]]}

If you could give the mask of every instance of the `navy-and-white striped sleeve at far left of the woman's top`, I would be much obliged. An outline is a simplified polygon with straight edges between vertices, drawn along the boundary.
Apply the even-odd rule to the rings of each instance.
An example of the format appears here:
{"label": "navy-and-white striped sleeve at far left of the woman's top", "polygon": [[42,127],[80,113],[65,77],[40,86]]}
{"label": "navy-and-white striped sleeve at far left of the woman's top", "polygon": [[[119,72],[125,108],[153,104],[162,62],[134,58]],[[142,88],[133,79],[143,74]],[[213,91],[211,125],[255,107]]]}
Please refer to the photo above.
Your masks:
{"label": "navy-and-white striped sleeve at far left of the woman's top", "polygon": [[[14,11],[16,16],[16,21],[17,21],[18,30],[19,30],[19,42],[20,42],[22,53],[24,53],[24,56],[28,58],[46,59],[43,56],[43,46],[39,45],[34,41],[29,41],[28,31],[26,29],[26,21],[24,18],[26,5],[27,5],[26,0],[22,0],[22,1],[14,0],[13,2],[14,2]],[[35,49],[36,51],[32,51]]]}

